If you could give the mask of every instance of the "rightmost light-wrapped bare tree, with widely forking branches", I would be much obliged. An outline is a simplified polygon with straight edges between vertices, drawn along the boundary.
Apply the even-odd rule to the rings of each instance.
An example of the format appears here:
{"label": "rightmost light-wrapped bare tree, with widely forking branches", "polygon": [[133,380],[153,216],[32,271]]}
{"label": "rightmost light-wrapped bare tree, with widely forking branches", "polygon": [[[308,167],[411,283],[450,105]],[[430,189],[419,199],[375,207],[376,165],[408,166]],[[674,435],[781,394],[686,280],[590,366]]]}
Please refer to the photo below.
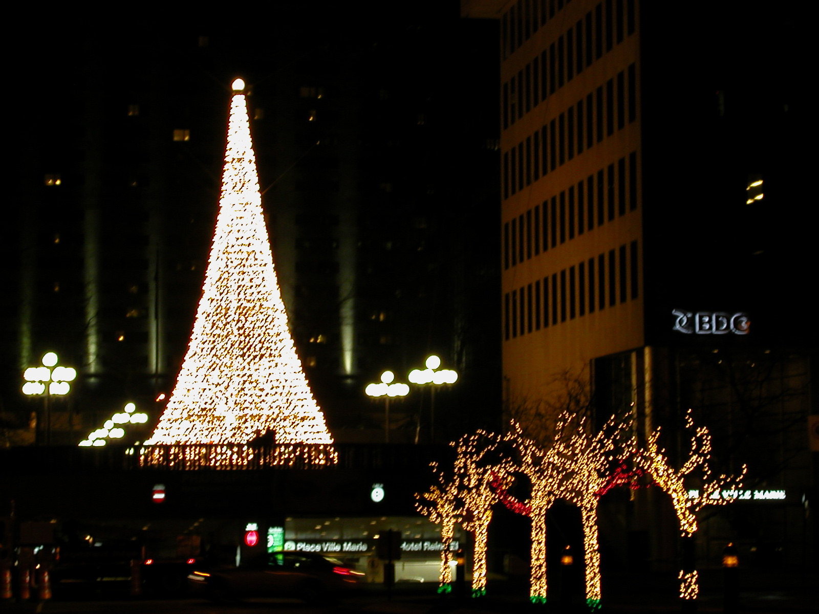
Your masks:
{"label": "rightmost light-wrapped bare tree, with widely forking branches", "polygon": [[[691,411],[686,413],[686,428],[694,428]],[[637,449],[632,442],[632,451],[638,463],[645,472],[649,472],[657,485],[671,495],[674,512],[680,523],[683,538],[682,569],[679,574],[680,597],[686,601],[697,598],[699,585],[694,557],[694,534],[697,530],[697,512],[706,505],[725,505],[735,500],[731,496],[742,488],[747,467],[742,466],[739,476],[713,476],[708,460],[711,458],[711,436],[707,427],[696,427],[691,436],[691,445],[686,462],[682,467],[675,469],[668,462],[665,449],[657,445],[660,436],[659,427],[651,434],[645,449]],[[699,470],[701,488],[695,496],[686,490],[684,481]]]}

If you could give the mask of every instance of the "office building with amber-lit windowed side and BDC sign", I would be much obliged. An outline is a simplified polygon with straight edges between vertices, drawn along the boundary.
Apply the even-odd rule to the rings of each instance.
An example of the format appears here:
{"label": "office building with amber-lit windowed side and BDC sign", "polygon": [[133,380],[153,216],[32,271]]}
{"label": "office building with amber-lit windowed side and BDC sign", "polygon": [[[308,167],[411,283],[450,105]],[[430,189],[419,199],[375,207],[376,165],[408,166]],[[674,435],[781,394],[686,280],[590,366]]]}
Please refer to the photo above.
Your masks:
{"label": "office building with amber-lit windowed side and BDC sign", "polygon": [[[546,426],[581,391],[597,424],[633,418],[640,442],[663,427],[676,462],[690,409],[714,471],[745,463],[746,488],[781,494],[720,508],[702,565],[728,541],[760,569],[807,560],[817,339],[799,314],[816,255],[799,20],[639,0],[464,1],[461,15],[501,30],[508,417]],[[676,568],[670,503],[623,505],[609,562]]]}

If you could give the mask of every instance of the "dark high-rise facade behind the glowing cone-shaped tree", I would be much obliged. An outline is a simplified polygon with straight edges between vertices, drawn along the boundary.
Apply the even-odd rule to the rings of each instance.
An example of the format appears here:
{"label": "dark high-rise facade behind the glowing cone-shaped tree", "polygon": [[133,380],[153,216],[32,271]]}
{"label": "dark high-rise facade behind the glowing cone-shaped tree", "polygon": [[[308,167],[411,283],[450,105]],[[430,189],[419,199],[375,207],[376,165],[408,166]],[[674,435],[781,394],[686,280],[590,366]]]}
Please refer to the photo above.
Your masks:
{"label": "dark high-rise facade behind the glowing cone-shaped tree", "polygon": [[[128,401],[161,409],[201,293],[235,76],[291,331],[331,429],[382,431],[364,386],[385,369],[405,381],[431,353],[462,373],[441,412],[496,411],[498,316],[482,297],[499,273],[485,70],[497,25],[459,20],[452,3],[376,22],[270,11],[240,28],[38,30],[16,160],[25,205],[4,250],[6,445],[32,442],[35,418],[43,428],[43,401],[20,386],[49,350],[79,372],[52,400],[52,442],[78,442]],[[43,55],[59,68],[42,70]],[[419,389],[394,405],[398,440],[428,438],[429,402]]]}

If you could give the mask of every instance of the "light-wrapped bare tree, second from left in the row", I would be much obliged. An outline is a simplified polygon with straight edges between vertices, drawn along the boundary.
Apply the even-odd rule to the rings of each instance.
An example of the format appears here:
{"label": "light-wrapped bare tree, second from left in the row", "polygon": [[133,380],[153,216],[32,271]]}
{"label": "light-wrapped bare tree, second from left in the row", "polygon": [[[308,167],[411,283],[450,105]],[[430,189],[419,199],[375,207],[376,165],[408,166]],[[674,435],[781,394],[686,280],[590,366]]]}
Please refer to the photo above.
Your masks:
{"label": "light-wrapped bare tree, second from left in the row", "polygon": [[499,437],[484,431],[463,436],[455,444],[455,476],[464,505],[464,529],[475,536],[473,597],[486,594],[486,540],[492,506],[500,501],[499,490],[505,491],[514,479],[511,475],[514,465],[500,454],[499,444]]}

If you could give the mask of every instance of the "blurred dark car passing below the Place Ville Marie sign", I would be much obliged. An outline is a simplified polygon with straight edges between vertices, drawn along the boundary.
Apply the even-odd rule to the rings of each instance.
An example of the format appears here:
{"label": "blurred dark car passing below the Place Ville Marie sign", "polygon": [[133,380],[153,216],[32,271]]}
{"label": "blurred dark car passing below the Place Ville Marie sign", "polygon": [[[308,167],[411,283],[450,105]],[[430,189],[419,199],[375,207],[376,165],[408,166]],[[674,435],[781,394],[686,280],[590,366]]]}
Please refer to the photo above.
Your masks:
{"label": "blurred dark car passing below the Place Ville Marie sign", "polygon": [[241,567],[197,567],[188,574],[193,594],[213,601],[296,597],[315,603],[355,589],[364,573],[337,558],[314,553],[265,553]]}

